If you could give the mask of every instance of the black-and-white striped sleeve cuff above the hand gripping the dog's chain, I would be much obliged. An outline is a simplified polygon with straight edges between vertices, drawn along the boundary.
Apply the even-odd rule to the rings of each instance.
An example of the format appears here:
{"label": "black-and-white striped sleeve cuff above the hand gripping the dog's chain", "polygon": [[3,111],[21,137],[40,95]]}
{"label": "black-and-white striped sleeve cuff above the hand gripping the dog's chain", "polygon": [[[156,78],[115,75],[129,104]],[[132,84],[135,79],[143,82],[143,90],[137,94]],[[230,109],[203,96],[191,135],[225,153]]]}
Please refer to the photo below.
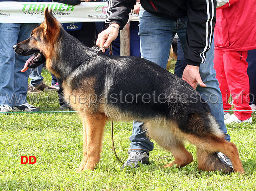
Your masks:
{"label": "black-and-white striped sleeve cuff above the hand gripping the dog's chain", "polygon": [[136,0],[108,0],[106,27],[112,23],[117,23],[122,30],[128,22],[129,13],[135,4]]}

